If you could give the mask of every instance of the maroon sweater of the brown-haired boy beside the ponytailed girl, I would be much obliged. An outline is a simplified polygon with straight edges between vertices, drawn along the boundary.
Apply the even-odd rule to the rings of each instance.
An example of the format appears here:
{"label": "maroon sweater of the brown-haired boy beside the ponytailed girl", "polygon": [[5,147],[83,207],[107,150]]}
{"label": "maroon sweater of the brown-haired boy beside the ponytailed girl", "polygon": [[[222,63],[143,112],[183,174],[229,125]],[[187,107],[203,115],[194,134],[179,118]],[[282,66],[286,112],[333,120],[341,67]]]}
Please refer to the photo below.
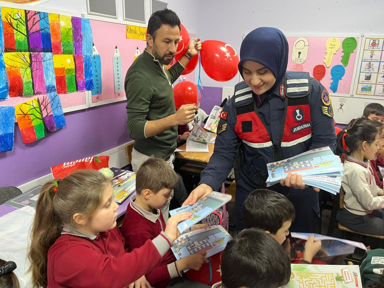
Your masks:
{"label": "maroon sweater of the brown-haired boy beside the ponytailed girl", "polygon": [[[136,197],[132,198],[121,226],[128,252],[142,247],[147,240],[156,238],[166,228],[160,210],[156,211],[157,214],[147,212],[134,203]],[[156,268],[146,274],[147,281],[155,288],[165,288],[171,278],[181,276],[175,261],[176,258],[169,249]]]}

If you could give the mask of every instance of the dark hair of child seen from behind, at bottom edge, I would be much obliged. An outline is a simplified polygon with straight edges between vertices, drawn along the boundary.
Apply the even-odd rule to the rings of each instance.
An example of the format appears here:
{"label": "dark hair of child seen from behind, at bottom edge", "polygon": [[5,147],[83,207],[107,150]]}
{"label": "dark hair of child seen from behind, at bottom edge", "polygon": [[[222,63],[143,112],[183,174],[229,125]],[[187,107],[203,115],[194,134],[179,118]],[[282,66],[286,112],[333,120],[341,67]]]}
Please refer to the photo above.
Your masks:
{"label": "dark hair of child seen from behind, at bottom edge", "polygon": [[291,263],[271,235],[250,228],[227,243],[221,273],[225,288],[277,288],[289,282]]}

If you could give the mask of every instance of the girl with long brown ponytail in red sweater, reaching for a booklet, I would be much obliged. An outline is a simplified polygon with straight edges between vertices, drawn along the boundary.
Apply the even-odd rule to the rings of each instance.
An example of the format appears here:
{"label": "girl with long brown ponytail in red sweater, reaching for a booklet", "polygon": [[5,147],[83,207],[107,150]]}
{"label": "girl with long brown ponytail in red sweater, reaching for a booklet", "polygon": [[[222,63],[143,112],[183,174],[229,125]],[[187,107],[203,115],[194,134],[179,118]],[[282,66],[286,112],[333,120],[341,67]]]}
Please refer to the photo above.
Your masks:
{"label": "girl with long brown ponytail in red sweater, reaching for a booklet", "polygon": [[[118,205],[111,180],[80,170],[46,182],[31,230],[28,258],[33,286],[150,287],[151,271],[179,236],[177,224],[191,214],[170,217],[167,228],[131,253],[116,226]],[[137,286],[136,286],[137,287]]]}

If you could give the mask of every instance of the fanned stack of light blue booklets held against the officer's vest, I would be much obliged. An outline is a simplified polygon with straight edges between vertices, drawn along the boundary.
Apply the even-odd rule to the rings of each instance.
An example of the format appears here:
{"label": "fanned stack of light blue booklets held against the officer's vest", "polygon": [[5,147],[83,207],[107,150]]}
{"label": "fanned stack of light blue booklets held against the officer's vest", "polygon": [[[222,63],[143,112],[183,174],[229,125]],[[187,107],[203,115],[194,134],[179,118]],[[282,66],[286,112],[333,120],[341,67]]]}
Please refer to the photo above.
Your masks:
{"label": "fanned stack of light blue booklets held against the officer's vest", "polygon": [[340,157],[327,147],[313,149],[294,157],[267,164],[267,186],[272,186],[286,178],[288,173],[303,176],[303,183],[332,194],[339,193],[343,165]]}

